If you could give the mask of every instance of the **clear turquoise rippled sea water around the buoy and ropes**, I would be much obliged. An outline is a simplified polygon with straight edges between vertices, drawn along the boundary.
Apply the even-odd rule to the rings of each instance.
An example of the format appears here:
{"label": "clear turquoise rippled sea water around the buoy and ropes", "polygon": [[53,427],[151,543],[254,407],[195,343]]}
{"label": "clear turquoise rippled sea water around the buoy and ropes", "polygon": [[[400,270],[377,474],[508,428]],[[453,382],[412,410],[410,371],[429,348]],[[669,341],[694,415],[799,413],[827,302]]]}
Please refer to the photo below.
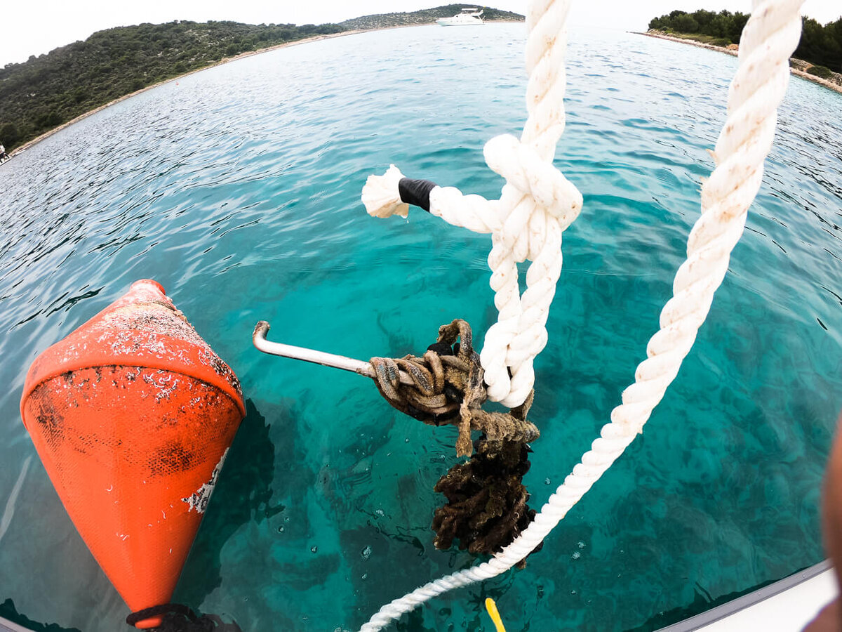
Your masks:
{"label": "clear turquoise rippled sea water around the buoy and ropes", "polygon": [[[176,600],[248,631],[356,629],[472,563],[436,551],[429,530],[455,430],[399,415],[365,378],[261,355],[251,334],[266,319],[272,340],[364,359],[423,350],[457,316],[481,339],[495,318],[488,235],[424,212],[375,220],[359,195],[394,162],[497,196],[482,145],[525,119],[524,37],[522,24],[419,27],[253,56],[0,167],[0,616],[99,632],[128,613],[18,405],[35,356],[144,277],[248,399]],[[557,165],[585,206],[536,361],[533,506],[645,355],[736,68],[599,31],[574,33],[569,57]],[[512,630],[655,629],[823,558],[820,481],[842,409],[840,109],[838,94],[792,80],[730,273],[642,437],[525,570],[435,599],[397,629],[490,630],[486,596]]]}

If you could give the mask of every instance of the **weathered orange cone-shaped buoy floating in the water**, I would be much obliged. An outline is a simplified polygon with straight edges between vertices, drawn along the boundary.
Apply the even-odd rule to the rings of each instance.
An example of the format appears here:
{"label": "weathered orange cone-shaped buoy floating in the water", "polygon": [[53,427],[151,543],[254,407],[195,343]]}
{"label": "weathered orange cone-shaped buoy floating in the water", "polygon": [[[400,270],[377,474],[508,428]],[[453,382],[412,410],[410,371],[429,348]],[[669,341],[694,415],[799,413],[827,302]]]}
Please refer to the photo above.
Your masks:
{"label": "weathered orange cone-shaped buoy floating in the water", "polygon": [[20,409],[61,502],[125,603],[168,603],[245,415],[232,370],[163,287],[136,281],[35,359]]}

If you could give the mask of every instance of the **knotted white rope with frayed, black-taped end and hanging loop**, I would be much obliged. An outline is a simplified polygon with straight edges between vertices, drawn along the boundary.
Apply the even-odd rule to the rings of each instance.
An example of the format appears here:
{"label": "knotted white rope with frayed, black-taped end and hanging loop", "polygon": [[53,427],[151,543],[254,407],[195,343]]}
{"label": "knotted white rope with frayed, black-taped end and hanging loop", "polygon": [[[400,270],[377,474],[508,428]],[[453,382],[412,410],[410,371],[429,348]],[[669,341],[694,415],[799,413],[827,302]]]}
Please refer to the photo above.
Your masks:
{"label": "knotted white rope with frayed, black-taped end and hanging loop", "polygon": [[[429,211],[456,226],[492,233],[488,267],[498,309],[486,332],[480,362],[488,397],[509,408],[523,404],[535,382],[532,362],[546,345],[546,319],[562,270],[562,232],[582,209],[582,194],[552,166],[564,131],[565,22],[570,0],[539,0],[527,15],[526,88],[529,117],[520,141],[504,135],[486,143],[488,166],[506,179],[499,200],[462,195],[453,187],[430,192]],[[392,165],[370,176],[363,203],[370,215],[407,217]],[[531,260],[526,290],[520,295],[517,264]],[[511,373],[511,377],[509,377]]]}

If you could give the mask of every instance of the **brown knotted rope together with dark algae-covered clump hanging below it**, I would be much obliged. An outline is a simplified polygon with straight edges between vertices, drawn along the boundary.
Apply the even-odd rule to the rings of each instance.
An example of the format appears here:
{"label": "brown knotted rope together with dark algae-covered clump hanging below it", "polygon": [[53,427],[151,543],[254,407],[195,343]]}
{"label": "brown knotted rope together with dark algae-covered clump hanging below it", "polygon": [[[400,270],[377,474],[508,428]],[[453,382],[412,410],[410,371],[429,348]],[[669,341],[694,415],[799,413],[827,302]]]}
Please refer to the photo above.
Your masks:
{"label": "brown knotted rope together with dark algae-covered clump hanging below it", "polygon": [[[435,547],[450,549],[458,539],[461,549],[493,554],[511,544],[536,515],[526,504],[529,493],[523,485],[530,469],[527,444],[538,438],[538,429],[526,420],[532,395],[509,412],[482,410],[488,399],[482,367],[471,327],[461,319],[440,327],[438,340],[424,356],[373,357],[370,365],[389,404],[432,426],[457,426],[456,455],[471,457],[435,484],[434,490],[447,499],[434,511]],[[482,432],[476,450],[471,431]],[[538,549],[540,543],[530,552]]]}

